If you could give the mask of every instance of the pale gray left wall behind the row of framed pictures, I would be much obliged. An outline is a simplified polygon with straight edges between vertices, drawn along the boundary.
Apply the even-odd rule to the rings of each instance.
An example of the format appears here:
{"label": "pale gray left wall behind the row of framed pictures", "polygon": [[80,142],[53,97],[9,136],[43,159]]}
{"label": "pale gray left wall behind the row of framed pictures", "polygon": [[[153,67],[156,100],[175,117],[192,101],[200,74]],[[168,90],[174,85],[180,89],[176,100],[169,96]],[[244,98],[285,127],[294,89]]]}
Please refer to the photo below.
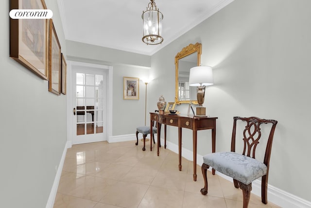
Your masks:
{"label": "pale gray left wall behind the row of framed pictures", "polygon": [[[9,2],[0,6],[0,207],[46,206],[67,141],[66,96],[9,57]],[[45,0],[66,54],[56,0]]]}

